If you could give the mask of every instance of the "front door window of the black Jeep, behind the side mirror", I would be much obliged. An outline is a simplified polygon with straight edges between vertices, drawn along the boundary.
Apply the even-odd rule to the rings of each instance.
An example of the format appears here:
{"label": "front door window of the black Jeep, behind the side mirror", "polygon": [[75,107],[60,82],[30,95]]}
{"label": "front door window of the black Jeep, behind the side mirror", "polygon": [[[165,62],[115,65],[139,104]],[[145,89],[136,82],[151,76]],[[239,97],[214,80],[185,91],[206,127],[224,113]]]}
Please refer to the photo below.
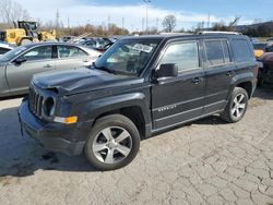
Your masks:
{"label": "front door window of the black Jeep, behind the side mirror", "polygon": [[176,63],[179,72],[199,69],[198,43],[170,45],[161,60],[165,63]]}

